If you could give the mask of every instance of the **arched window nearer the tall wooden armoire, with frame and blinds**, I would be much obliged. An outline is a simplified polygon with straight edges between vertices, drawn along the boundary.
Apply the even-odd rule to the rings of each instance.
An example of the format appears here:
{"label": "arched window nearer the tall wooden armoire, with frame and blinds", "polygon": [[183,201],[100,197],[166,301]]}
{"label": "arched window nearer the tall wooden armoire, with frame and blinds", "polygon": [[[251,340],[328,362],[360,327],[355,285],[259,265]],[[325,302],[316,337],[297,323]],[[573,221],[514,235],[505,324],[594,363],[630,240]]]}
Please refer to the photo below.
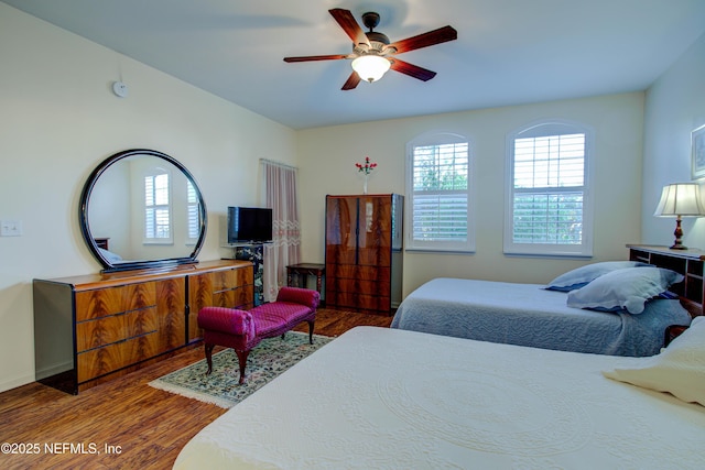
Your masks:
{"label": "arched window nearer the tall wooden armoire, with frame and blinds", "polygon": [[475,250],[470,144],[433,133],[406,145],[406,250]]}

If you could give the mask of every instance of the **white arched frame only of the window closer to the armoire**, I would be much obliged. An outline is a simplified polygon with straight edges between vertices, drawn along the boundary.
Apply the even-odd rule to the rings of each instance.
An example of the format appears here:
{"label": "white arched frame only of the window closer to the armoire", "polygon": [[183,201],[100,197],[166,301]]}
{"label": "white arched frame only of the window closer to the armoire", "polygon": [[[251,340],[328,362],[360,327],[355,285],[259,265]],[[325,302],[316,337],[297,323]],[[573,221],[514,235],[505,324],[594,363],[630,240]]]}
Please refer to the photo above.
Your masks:
{"label": "white arched frame only of the window closer to the armoire", "polygon": [[[467,233],[465,241],[422,241],[414,240],[414,149],[427,145],[467,144]],[[406,143],[405,194],[404,201],[404,250],[413,252],[435,253],[474,253],[475,252],[475,159],[473,142],[469,138],[454,132],[433,131],[412,139]]]}

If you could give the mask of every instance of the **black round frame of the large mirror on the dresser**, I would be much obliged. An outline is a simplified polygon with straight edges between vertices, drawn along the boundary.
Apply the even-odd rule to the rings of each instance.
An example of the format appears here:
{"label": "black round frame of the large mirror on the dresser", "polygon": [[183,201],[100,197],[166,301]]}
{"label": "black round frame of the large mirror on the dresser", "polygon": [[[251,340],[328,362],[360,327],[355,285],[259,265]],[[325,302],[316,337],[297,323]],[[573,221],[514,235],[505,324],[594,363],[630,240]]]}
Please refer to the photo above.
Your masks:
{"label": "black round frame of the large mirror on the dresser", "polygon": [[[183,258],[169,258],[169,259],[159,259],[159,260],[140,260],[140,261],[131,261],[131,262],[113,264],[108,260],[106,260],[100,254],[100,251],[98,250],[98,244],[96,243],[95,238],[90,233],[90,223],[88,222],[88,203],[90,200],[90,195],[93,193],[94,187],[96,186],[96,183],[98,182],[100,176],[106,172],[106,170],[108,170],[110,166],[115,165],[116,163],[134,155],[149,155],[149,156],[156,156],[159,159],[165,160],[166,162],[171,163],[176,168],[178,168],[184,174],[184,176],[191,181],[194,188],[196,189],[196,194],[198,196],[198,207],[199,207],[198,216],[200,219],[200,234],[198,237],[198,240],[196,241],[195,248],[191,253],[191,255],[183,256]],[[197,263],[198,260],[196,260],[196,256],[198,255],[198,252],[203,248],[203,243],[206,239],[206,227],[208,225],[208,216],[206,210],[206,204],[203,199],[203,193],[200,192],[200,188],[196,184],[196,181],[194,179],[193,175],[188,172],[188,170],[186,170],[184,165],[178,163],[173,157],[166,155],[165,153],[158,152],[155,150],[149,150],[149,149],[126,150],[122,152],[118,152],[107,157],[106,160],[104,160],[93,171],[93,173],[90,173],[90,176],[88,176],[88,179],[84,185],[83,192],[80,194],[78,212],[79,212],[78,220],[80,225],[80,231],[84,236],[84,240],[88,245],[88,249],[90,250],[93,255],[96,258],[96,260],[98,260],[98,262],[102,264],[104,266],[102,272],[106,272],[106,273],[117,272],[117,271],[141,270],[141,269],[170,267],[178,264]]]}

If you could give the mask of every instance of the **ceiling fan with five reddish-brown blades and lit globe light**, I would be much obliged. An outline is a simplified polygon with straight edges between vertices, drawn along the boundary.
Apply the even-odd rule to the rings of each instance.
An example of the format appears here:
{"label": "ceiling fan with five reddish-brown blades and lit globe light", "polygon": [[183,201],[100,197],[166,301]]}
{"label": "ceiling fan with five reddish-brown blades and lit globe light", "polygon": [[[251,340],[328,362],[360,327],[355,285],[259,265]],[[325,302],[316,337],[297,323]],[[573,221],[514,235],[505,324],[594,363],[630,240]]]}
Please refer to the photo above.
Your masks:
{"label": "ceiling fan with five reddish-brown blades and lit globe light", "polygon": [[454,41],[458,37],[457,31],[453,28],[443,26],[437,30],[429,31],[427,33],[390,43],[387,35],[372,31],[379,24],[378,13],[367,12],[362,14],[362,23],[365,26],[369,28],[369,31],[366,33],[357,24],[355,17],[352,17],[352,13],[350,13],[349,10],[335,8],[333,10],[328,10],[328,12],[352,40],[352,53],[284,57],[284,62],[337,61],[343,58],[351,59],[354,70],[345,85],[343,85],[344,90],[354,89],[362,79],[370,83],[376,81],[390,68],[404,75],[409,75],[410,77],[427,81],[436,76],[435,72],[401,61],[394,57],[394,55]]}

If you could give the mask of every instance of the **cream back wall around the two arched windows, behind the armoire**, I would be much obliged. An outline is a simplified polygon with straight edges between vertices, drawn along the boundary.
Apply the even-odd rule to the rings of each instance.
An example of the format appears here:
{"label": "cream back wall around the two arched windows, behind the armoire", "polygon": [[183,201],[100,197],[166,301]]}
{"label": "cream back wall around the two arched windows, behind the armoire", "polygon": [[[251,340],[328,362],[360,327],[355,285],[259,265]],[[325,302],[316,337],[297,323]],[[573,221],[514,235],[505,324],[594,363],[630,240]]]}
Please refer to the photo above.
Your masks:
{"label": "cream back wall around the two arched windows, behind the armoire", "polygon": [[414,136],[443,130],[466,135],[476,159],[476,254],[404,254],[403,293],[437,276],[545,283],[585,264],[577,260],[502,254],[506,135],[541,118],[562,118],[595,129],[595,243],[592,261],[623,260],[639,242],[643,94],[545,102],[479,111],[326,127],[297,133],[301,168],[302,258],[324,260],[326,194],[359,194],[356,162],[379,164],[369,193],[404,193],[404,152]]}

